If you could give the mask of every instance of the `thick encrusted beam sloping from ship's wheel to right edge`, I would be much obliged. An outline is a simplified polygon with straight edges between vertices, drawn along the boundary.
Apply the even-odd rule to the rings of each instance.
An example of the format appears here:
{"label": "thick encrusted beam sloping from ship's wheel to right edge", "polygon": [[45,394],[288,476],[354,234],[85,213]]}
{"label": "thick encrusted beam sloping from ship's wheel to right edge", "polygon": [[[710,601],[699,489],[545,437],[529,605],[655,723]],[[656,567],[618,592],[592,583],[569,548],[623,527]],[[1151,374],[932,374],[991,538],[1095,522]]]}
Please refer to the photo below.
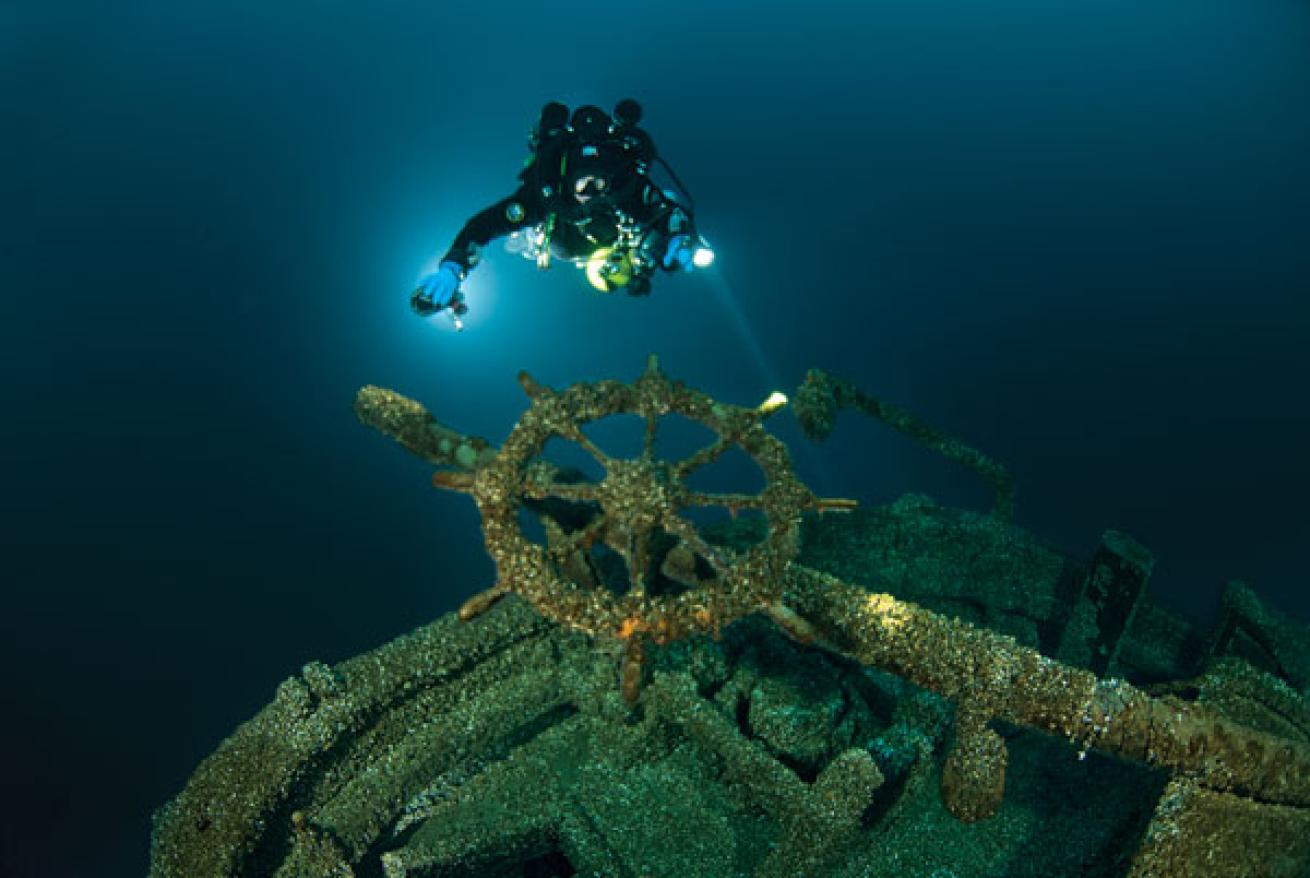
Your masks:
{"label": "thick encrusted beam sloping from ship's wheel to right edge", "polygon": [[1259,733],[1204,706],[1099,680],[1013,638],[869,594],[800,565],[787,603],[865,664],[967,701],[977,716],[1041,729],[1079,750],[1169,768],[1209,789],[1310,806],[1310,747]]}

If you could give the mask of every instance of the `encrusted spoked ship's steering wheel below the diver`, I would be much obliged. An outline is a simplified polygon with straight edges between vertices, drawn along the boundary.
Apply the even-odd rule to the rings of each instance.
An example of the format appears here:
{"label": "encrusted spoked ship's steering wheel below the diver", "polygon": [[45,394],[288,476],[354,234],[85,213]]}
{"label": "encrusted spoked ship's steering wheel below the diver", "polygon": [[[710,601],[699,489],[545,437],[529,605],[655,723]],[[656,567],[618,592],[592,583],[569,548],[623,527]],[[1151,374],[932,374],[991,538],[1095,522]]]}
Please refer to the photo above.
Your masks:
{"label": "encrusted spoked ship's steering wheel below the diver", "polygon": [[[597,381],[554,391],[527,373],[519,381],[532,405],[499,452],[483,460],[472,477],[434,481],[473,497],[499,577],[495,587],[460,609],[461,619],[472,619],[503,594],[515,592],[562,625],[592,637],[626,641],[622,691],[630,700],[639,689],[645,655],[638,641],[668,643],[698,633],[717,634],[734,620],[760,611],[781,620],[785,630],[807,637],[803,620],[781,605],[783,574],[799,549],[800,515],[807,510],[849,508],[853,503],[815,497],[795,477],[786,448],[762,426],[777,405],[717,402],[671,381],[654,356],[633,384]],[[643,419],[642,451],[635,459],[610,456],[583,431],[584,425],[616,414]],[[681,460],[658,459],[655,438],[660,418],[668,414],[707,427],[714,439]],[[541,457],[553,438],[580,446],[604,468],[604,478],[599,484],[559,481],[557,468]],[[719,494],[686,486],[692,473],[732,448],[740,448],[760,467],[764,490]],[[558,533],[553,545],[542,546],[519,525],[520,510],[529,499],[562,499],[588,505],[596,512],[586,525]],[[761,512],[768,523],[764,540],[734,557],[711,546],[684,511],[713,506]],[[647,582],[660,566],[663,553],[656,553],[655,544],[662,533],[709,565],[711,575],[684,591],[651,594]],[[622,558],[629,584],[625,594],[565,575],[571,565],[576,566],[576,556],[597,543]]]}

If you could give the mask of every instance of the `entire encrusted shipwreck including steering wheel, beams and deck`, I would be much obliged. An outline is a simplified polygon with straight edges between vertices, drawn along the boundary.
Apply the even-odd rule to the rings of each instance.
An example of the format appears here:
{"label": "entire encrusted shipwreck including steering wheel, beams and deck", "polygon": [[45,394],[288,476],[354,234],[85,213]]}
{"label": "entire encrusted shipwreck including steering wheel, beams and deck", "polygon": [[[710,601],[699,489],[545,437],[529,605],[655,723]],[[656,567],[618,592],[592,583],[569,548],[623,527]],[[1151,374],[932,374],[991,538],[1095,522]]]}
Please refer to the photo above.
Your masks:
{"label": "entire encrusted shipwreck including steering wheel, beams and deck", "polygon": [[[1041,788],[1061,772],[1089,809],[1078,820],[1096,810],[1103,844],[1134,848],[1087,849],[1087,874],[1296,878],[1310,865],[1303,632],[1254,595],[1230,590],[1200,676],[1138,688],[1106,675],[1146,660],[1138,630],[1167,626],[1146,600],[1150,557],[1128,537],[1107,533],[1077,566],[1076,594],[1044,588],[1024,617],[1051,625],[1076,615],[1058,594],[1081,601],[1083,628],[1043,638],[1082,655],[1073,667],[1034,649],[1030,628],[1020,643],[799,563],[802,531],[836,524],[802,515],[852,505],[815,498],[791,473],[761,427],[776,401],[717,402],[654,359],[634,384],[521,384],[532,406],[499,449],[400,394],[360,392],[362,421],[448,468],[434,484],[473,495],[498,582],[458,617],[283,683],[156,815],[152,878],[855,878],[908,862],[914,874],[977,878],[1009,874],[1007,852],[1060,861],[1060,845],[1027,845],[1051,809]],[[827,402],[814,397],[829,426],[838,397],[869,402],[829,387]],[[617,411],[645,421],[635,459],[608,456],[580,430]],[[654,436],[669,411],[715,439],[659,460]],[[605,477],[545,461],[553,436]],[[686,473],[732,447],[760,465],[762,490],[686,487]],[[1009,476],[982,469],[998,490],[990,516],[914,502],[837,520],[907,528],[891,541],[939,545],[943,557],[968,543],[958,570],[938,565],[952,579],[976,570],[1009,582],[1022,560],[1031,581],[1064,582],[1068,560],[1001,533],[1018,533],[1005,522]],[[765,539],[711,537],[679,515],[710,503],[758,511]],[[521,510],[544,515],[545,545],[523,533]],[[828,545],[861,541],[870,535]],[[593,545],[621,560],[626,590],[607,587],[587,558]],[[871,579],[938,569],[907,565],[903,550],[865,553],[886,562]],[[807,548],[823,566],[820,554]],[[997,592],[1002,616],[1023,609],[1014,591]],[[925,594],[984,600],[968,587]],[[1188,637],[1174,639],[1182,655]],[[1184,667],[1149,660],[1153,672]],[[790,691],[814,693],[814,705],[789,701],[778,667],[799,675]],[[1129,790],[1141,801],[1125,807]],[[971,848],[976,839],[988,841]]]}

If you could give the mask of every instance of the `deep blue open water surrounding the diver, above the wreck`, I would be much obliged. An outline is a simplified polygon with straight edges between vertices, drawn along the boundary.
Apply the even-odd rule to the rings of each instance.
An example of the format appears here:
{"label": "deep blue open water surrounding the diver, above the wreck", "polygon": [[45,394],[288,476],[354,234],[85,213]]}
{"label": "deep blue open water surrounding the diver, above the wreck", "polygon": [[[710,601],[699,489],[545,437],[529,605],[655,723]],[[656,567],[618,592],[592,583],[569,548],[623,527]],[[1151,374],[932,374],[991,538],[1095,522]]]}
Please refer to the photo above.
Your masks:
{"label": "deep blue open water surrounding the diver, above the wreck", "polygon": [[[140,875],[149,812],[279,680],[491,583],[478,518],[351,413],[499,442],[646,353],[740,404],[810,367],[1010,467],[1017,522],[1310,620],[1303,0],[0,5],[0,877]],[[612,107],[717,263],[601,296],[493,245],[406,297],[540,106]],[[879,425],[820,493],[986,486]]]}

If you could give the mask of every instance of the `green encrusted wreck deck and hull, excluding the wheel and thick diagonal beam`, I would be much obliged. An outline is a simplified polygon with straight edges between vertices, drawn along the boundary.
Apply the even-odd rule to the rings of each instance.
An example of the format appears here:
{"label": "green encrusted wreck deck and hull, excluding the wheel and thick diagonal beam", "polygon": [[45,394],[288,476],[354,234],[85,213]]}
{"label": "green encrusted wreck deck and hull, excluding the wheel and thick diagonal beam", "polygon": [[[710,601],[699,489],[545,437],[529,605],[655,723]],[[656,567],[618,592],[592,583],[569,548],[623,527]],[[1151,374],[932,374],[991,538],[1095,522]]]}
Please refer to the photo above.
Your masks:
{"label": "green encrusted wreck deck and hull, excluding the wheel and thick diagonal beam", "polygon": [[[812,519],[803,546],[808,567],[1017,647],[1104,641],[1104,613],[1078,609],[1098,598],[1078,587],[1095,556],[1066,558],[993,516],[912,497]],[[1142,596],[1115,634],[1114,672],[1305,744],[1300,671],[1275,664],[1303,630],[1279,617],[1264,634],[1251,600],[1210,637]],[[1276,654],[1256,667],[1242,653],[1262,642]],[[635,706],[620,663],[515,598],[310,663],[160,810],[152,875],[1297,878],[1310,862],[1307,809],[984,729],[760,617],[652,649]],[[975,756],[952,765],[960,754]]]}

